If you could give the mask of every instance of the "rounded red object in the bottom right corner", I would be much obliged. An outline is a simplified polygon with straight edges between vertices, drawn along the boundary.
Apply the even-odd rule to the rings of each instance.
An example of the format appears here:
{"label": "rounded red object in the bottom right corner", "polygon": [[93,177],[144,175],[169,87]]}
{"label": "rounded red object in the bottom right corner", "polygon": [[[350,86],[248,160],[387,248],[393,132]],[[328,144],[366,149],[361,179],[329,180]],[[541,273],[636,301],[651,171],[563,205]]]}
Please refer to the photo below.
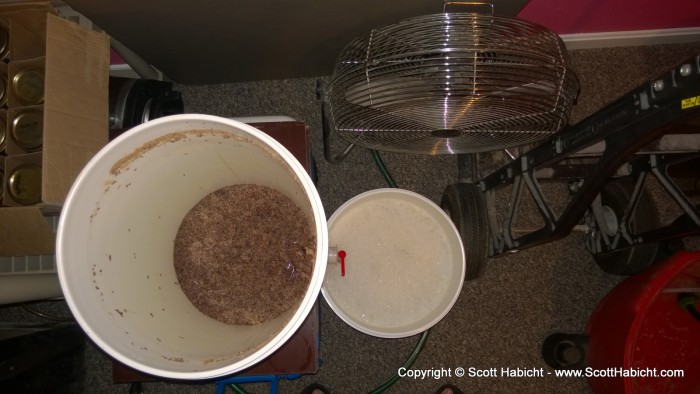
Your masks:
{"label": "rounded red object in the bottom right corner", "polygon": [[[700,393],[700,321],[678,303],[698,288],[700,252],[680,252],[608,293],[588,322],[590,368],[657,376],[589,377],[593,391]],[[683,376],[661,377],[662,370]]]}

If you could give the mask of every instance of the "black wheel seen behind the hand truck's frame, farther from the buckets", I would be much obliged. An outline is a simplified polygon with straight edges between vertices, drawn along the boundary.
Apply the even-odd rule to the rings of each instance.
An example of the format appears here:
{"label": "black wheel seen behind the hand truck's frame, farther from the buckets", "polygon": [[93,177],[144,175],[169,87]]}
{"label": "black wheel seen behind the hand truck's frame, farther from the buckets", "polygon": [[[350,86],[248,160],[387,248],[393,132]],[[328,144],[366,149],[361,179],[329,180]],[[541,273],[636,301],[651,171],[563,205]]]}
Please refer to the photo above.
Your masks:
{"label": "black wheel seen behind the hand truck's frame, farther from the buckets", "polygon": [[[618,219],[622,218],[634,189],[631,182],[612,181],[600,192],[601,203],[609,207]],[[639,196],[633,219],[628,223],[632,234],[640,234],[659,227],[654,203],[646,190]],[[623,250],[594,254],[596,264],[614,275],[634,275],[644,271],[656,260],[658,244],[640,244]]]}

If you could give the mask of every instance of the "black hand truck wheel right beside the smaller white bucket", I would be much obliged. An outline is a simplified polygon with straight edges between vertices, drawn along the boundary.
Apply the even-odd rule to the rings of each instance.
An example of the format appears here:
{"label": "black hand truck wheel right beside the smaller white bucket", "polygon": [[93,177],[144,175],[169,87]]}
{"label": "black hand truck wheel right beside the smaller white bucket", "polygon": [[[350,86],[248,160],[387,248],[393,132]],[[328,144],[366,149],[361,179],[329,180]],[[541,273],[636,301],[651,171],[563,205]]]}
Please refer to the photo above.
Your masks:
{"label": "black hand truck wheel right beside the smaller white bucket", "polygon": [[489,223],[486,202],[479,186],[473,183],[448,185],[440,207],[452,219],[464,246],[465,280],[484,273],[489,247]]}

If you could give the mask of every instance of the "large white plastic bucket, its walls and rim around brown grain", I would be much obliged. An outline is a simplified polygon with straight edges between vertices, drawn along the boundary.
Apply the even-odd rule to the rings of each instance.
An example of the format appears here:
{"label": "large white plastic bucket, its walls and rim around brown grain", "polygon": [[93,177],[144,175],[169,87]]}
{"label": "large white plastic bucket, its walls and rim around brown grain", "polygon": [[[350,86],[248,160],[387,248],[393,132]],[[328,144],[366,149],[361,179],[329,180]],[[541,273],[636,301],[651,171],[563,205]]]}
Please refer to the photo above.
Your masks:
{"label": "large white plastic bucket, its walls and rim around brown grain", "polygon": [[[207,194],[243,183],[291,198],[317,239],[301,304],[253,326],[199,312],[177,284],[173,265],[185,214]],[[176,115],[131,129],[89,162],[66,200],[56,257],[73,314],[110,356],[156,376],[209,379],[256,364],[299,328],[322,285],[327,237],[313,182],[282,145],[238,121]]]}

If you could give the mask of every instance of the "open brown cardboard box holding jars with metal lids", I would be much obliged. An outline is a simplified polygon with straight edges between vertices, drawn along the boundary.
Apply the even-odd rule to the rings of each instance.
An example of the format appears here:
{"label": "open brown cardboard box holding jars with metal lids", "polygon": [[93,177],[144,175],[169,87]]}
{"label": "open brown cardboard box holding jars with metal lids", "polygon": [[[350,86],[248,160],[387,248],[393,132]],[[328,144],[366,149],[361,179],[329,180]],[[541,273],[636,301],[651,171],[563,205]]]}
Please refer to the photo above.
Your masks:
{"label": "open brown cardboard box holding jars with metal lids", "polygon": [[[45,74],[42,201],[0,207],[0,256],[51,255],[55,234],[44,215],[60,213],[76,177],[108,141],[109,37],[54,15],[43,2],[0,5],[2,26],[9,29],[9,73],[40,63]],[[11,94],[8,105],[8,114],[21,108]],[[15,165],[24,152],[12,147],[8,154],[5,165]]]}

